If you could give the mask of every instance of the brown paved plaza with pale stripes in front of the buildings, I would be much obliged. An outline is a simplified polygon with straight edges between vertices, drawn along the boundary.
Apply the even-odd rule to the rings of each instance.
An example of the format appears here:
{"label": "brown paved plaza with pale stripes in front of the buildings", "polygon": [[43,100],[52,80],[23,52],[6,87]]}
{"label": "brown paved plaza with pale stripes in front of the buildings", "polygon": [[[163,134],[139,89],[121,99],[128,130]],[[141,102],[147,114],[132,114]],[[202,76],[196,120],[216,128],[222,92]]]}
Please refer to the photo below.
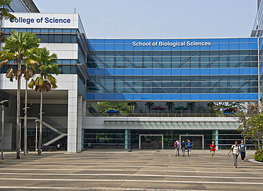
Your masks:
{"label": "brown paved plaza with pale stripes in front of the buildings", "polygon": [[[0,162],[0,190],[262,190],[263,164],[249,160],[234,168],[228,151],[88,150],[29,153]],[[248,158],[254,151],[248,152]]]}

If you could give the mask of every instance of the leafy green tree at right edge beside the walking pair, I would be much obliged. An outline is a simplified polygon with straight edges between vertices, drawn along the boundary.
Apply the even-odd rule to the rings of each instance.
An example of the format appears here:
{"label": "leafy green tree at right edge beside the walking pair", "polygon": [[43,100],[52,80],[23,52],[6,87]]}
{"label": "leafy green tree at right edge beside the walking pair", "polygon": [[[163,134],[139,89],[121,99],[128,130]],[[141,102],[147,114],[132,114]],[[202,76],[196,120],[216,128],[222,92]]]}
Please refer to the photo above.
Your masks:
{"label": "leafy green tree at right edge beside the walking pair", "polygon": [[240,122],[238,131],[241,132],[244,138],[252,141],[255,148],[262,151],[262,136],[263,136],[263,114],[259,104],[242,104],[235,118]]}

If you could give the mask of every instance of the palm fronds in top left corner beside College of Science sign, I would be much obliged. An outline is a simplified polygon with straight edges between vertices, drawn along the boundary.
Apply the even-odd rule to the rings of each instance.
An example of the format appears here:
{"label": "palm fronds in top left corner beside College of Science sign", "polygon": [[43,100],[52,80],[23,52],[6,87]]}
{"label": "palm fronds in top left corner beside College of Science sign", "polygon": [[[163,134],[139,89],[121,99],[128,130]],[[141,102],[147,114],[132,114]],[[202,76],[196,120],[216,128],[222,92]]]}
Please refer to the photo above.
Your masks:
{"label": "palm fronds in top left corner beside College of Science sign", "polygon": [[[10,6],[10,3],[11,3],[12,0],[0,0],[0,31],[1,31],[1,28],[2,28],[2,20],[11,20],[13,21],[16,16],[12,15],[11,13],[9,13],[9,9],[8,7]],[[5,37],[4,37],[4,31],[1,31],[0,33],[1,35],[1,42],[4,42],[5,40]]]}

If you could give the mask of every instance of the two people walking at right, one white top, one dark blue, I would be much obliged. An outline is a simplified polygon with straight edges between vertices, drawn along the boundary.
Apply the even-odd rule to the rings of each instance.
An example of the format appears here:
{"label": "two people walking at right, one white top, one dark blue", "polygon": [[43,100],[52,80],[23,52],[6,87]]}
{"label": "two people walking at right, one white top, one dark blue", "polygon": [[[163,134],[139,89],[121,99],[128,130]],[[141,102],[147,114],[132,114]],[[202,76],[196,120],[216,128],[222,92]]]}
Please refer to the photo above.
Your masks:
{"label": "two people walking at right, one white top, one dark blue", "polygon": [[235,145],[232,145],[228,155],[230,155],[231,151],[232,151],[232,155],[234,157],[234,167],[237,168],[238,155],[241,155],[241,160],[243,162],[245,160],[247,146],[244,143],[244,141],[241,141],[240,144],[238,144],[237,141],[235,141]]}

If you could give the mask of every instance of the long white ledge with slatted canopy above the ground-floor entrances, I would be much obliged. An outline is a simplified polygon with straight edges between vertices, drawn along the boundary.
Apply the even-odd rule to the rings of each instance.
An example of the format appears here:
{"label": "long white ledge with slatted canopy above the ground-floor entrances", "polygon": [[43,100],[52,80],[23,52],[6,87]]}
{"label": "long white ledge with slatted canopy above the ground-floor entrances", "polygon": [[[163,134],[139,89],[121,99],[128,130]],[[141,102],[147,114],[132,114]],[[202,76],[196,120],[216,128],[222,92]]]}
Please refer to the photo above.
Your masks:
{"label": "long white ledge with slatted canopy above the ground-floor entrances", "polygon": [[82,129],[181,129],[237,130],[238,122],[230,117],[92,117],[82,118]]}

